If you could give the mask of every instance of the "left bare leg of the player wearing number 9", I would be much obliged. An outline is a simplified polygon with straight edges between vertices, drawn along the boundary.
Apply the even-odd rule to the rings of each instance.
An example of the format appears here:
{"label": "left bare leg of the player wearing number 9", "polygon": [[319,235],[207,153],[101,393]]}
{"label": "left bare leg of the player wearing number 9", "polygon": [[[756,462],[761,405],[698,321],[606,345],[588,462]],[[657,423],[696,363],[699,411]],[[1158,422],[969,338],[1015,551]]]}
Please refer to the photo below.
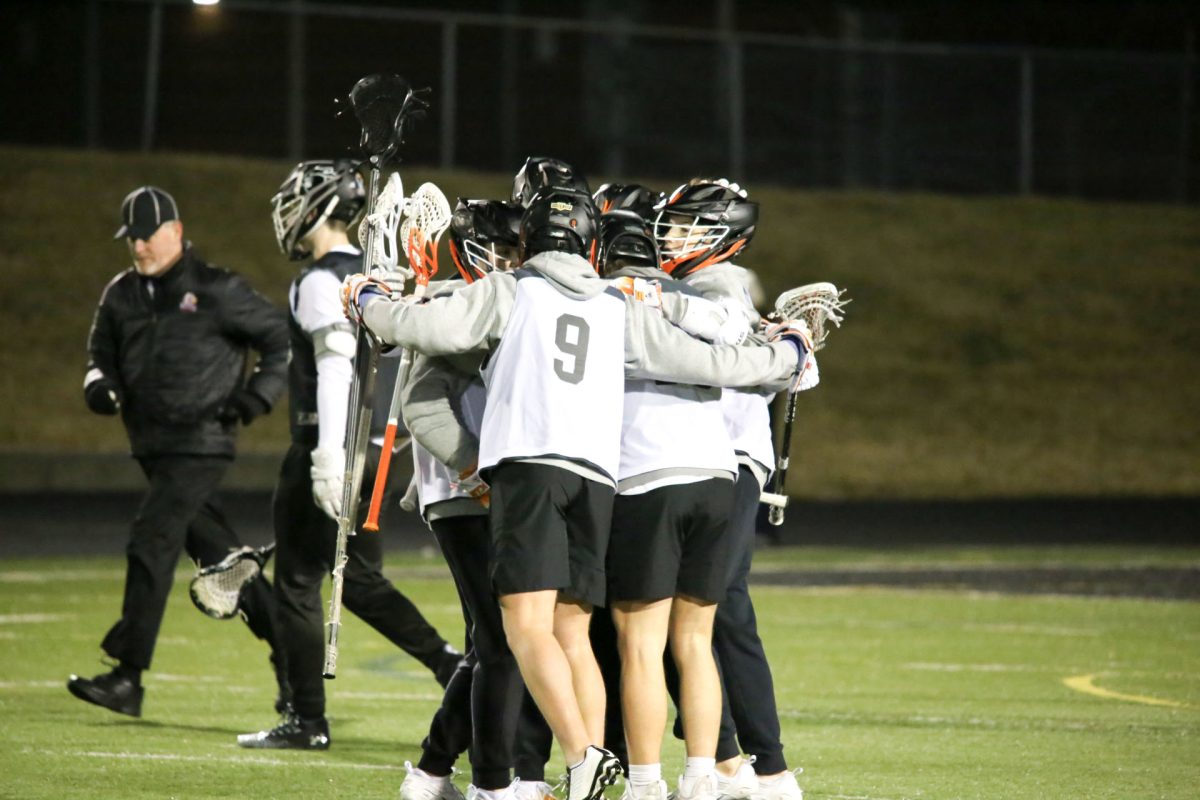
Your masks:
{"label": "left bare leg of the player wearing number 9", "polygon": [[504,634],[521,668],[521,676],[554,732],[566,763],[575,764],[583,758],[593,739],[575,697],[571,662],[554,637],[557,603],[556,589],[522,591],[502,595],[500,612]]}

